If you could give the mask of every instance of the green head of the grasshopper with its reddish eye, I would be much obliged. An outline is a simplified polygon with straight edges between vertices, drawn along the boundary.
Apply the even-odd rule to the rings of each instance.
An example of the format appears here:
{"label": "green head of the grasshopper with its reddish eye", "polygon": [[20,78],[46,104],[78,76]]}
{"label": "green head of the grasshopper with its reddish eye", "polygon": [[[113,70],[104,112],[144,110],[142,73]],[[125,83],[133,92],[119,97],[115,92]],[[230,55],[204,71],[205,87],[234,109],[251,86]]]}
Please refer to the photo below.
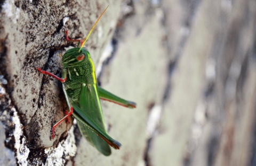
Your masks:
{"label": "green head of the grasshopper with its reddish eye", "polygon": [[64,66],[75,66],[84,64],[90,59],[90,53],[86,48],[82,48],[80,51],[79,49],[79,47],[76,47],[67,50],[62,57],[62,64]]}

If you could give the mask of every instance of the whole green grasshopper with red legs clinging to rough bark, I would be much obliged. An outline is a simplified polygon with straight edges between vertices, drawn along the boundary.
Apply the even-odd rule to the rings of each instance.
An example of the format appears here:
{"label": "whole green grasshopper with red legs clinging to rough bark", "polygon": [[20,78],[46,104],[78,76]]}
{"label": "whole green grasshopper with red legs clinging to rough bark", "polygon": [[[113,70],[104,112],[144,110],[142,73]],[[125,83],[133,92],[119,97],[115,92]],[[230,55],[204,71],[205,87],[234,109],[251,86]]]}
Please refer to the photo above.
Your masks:
{"label": "whole green grasshopper with red legs clinging to rough bark", "polygon": [[[136,107],[136,103],[119,98],[97,85],[95,69],[90,58],[90,53],[83,47],[107,8],[101,13],[86,38],[82,40],[71,40],[68,38],[68,32],[66,31],[66,39],[68,41],[79,42],[76,48],[67,50],[63,55],[61,78],[50,72],[43,71],[41,68],[36,68],[39,72],[50,75],[62,82],[62,89],[67,101],[68,113],[53,125],[51,129],[51,139],[54,138],[55,128],[63,120],[73,115],[77,120],[77,125],[82,135],[95,146],[99,152],[106,156],[111,154],[110,146],[119,149],[121,143],[107,134],[100,99],[114,102],[128,108]],[[81,47],[79,47],[80,44]]]}

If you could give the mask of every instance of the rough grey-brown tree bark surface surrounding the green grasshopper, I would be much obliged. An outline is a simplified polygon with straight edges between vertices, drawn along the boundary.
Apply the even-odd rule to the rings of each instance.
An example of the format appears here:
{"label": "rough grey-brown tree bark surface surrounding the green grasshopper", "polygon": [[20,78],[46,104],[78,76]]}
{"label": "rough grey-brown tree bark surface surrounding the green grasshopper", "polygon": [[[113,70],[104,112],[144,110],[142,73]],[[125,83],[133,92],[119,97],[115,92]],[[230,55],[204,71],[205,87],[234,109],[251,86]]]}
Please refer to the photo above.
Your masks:
{"label": "rough grey-brown tree bark surface surrounding the green grasshopper", "polygon": [[[1,1],[0,165],[256,165],[256,2]],[[106,157],[63,122],[60,54],[87,35],[99,84],[137,102],[102,101]],[[6,84],[7,81],[7,84]],[[72,121],[70,119],[70,121]]]}

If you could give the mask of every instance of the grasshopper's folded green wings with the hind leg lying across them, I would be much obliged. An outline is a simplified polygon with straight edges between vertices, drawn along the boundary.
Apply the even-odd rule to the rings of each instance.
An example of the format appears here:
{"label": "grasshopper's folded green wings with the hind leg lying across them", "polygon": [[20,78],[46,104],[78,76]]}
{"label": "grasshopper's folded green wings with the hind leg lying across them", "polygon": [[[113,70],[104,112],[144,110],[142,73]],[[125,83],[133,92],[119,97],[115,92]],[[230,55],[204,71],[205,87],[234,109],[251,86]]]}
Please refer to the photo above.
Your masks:
{"label": "grasshopper's folded green wings with the hind leg lying across them", "polygon": [[79,106],[74,103],[72,106],[75,110],[73,115],[77,119],[78,127],[87,141],[104,155],[111,154],[110,146],[119,149],[121,144],[107,134],[97,85],[82,84]]}

